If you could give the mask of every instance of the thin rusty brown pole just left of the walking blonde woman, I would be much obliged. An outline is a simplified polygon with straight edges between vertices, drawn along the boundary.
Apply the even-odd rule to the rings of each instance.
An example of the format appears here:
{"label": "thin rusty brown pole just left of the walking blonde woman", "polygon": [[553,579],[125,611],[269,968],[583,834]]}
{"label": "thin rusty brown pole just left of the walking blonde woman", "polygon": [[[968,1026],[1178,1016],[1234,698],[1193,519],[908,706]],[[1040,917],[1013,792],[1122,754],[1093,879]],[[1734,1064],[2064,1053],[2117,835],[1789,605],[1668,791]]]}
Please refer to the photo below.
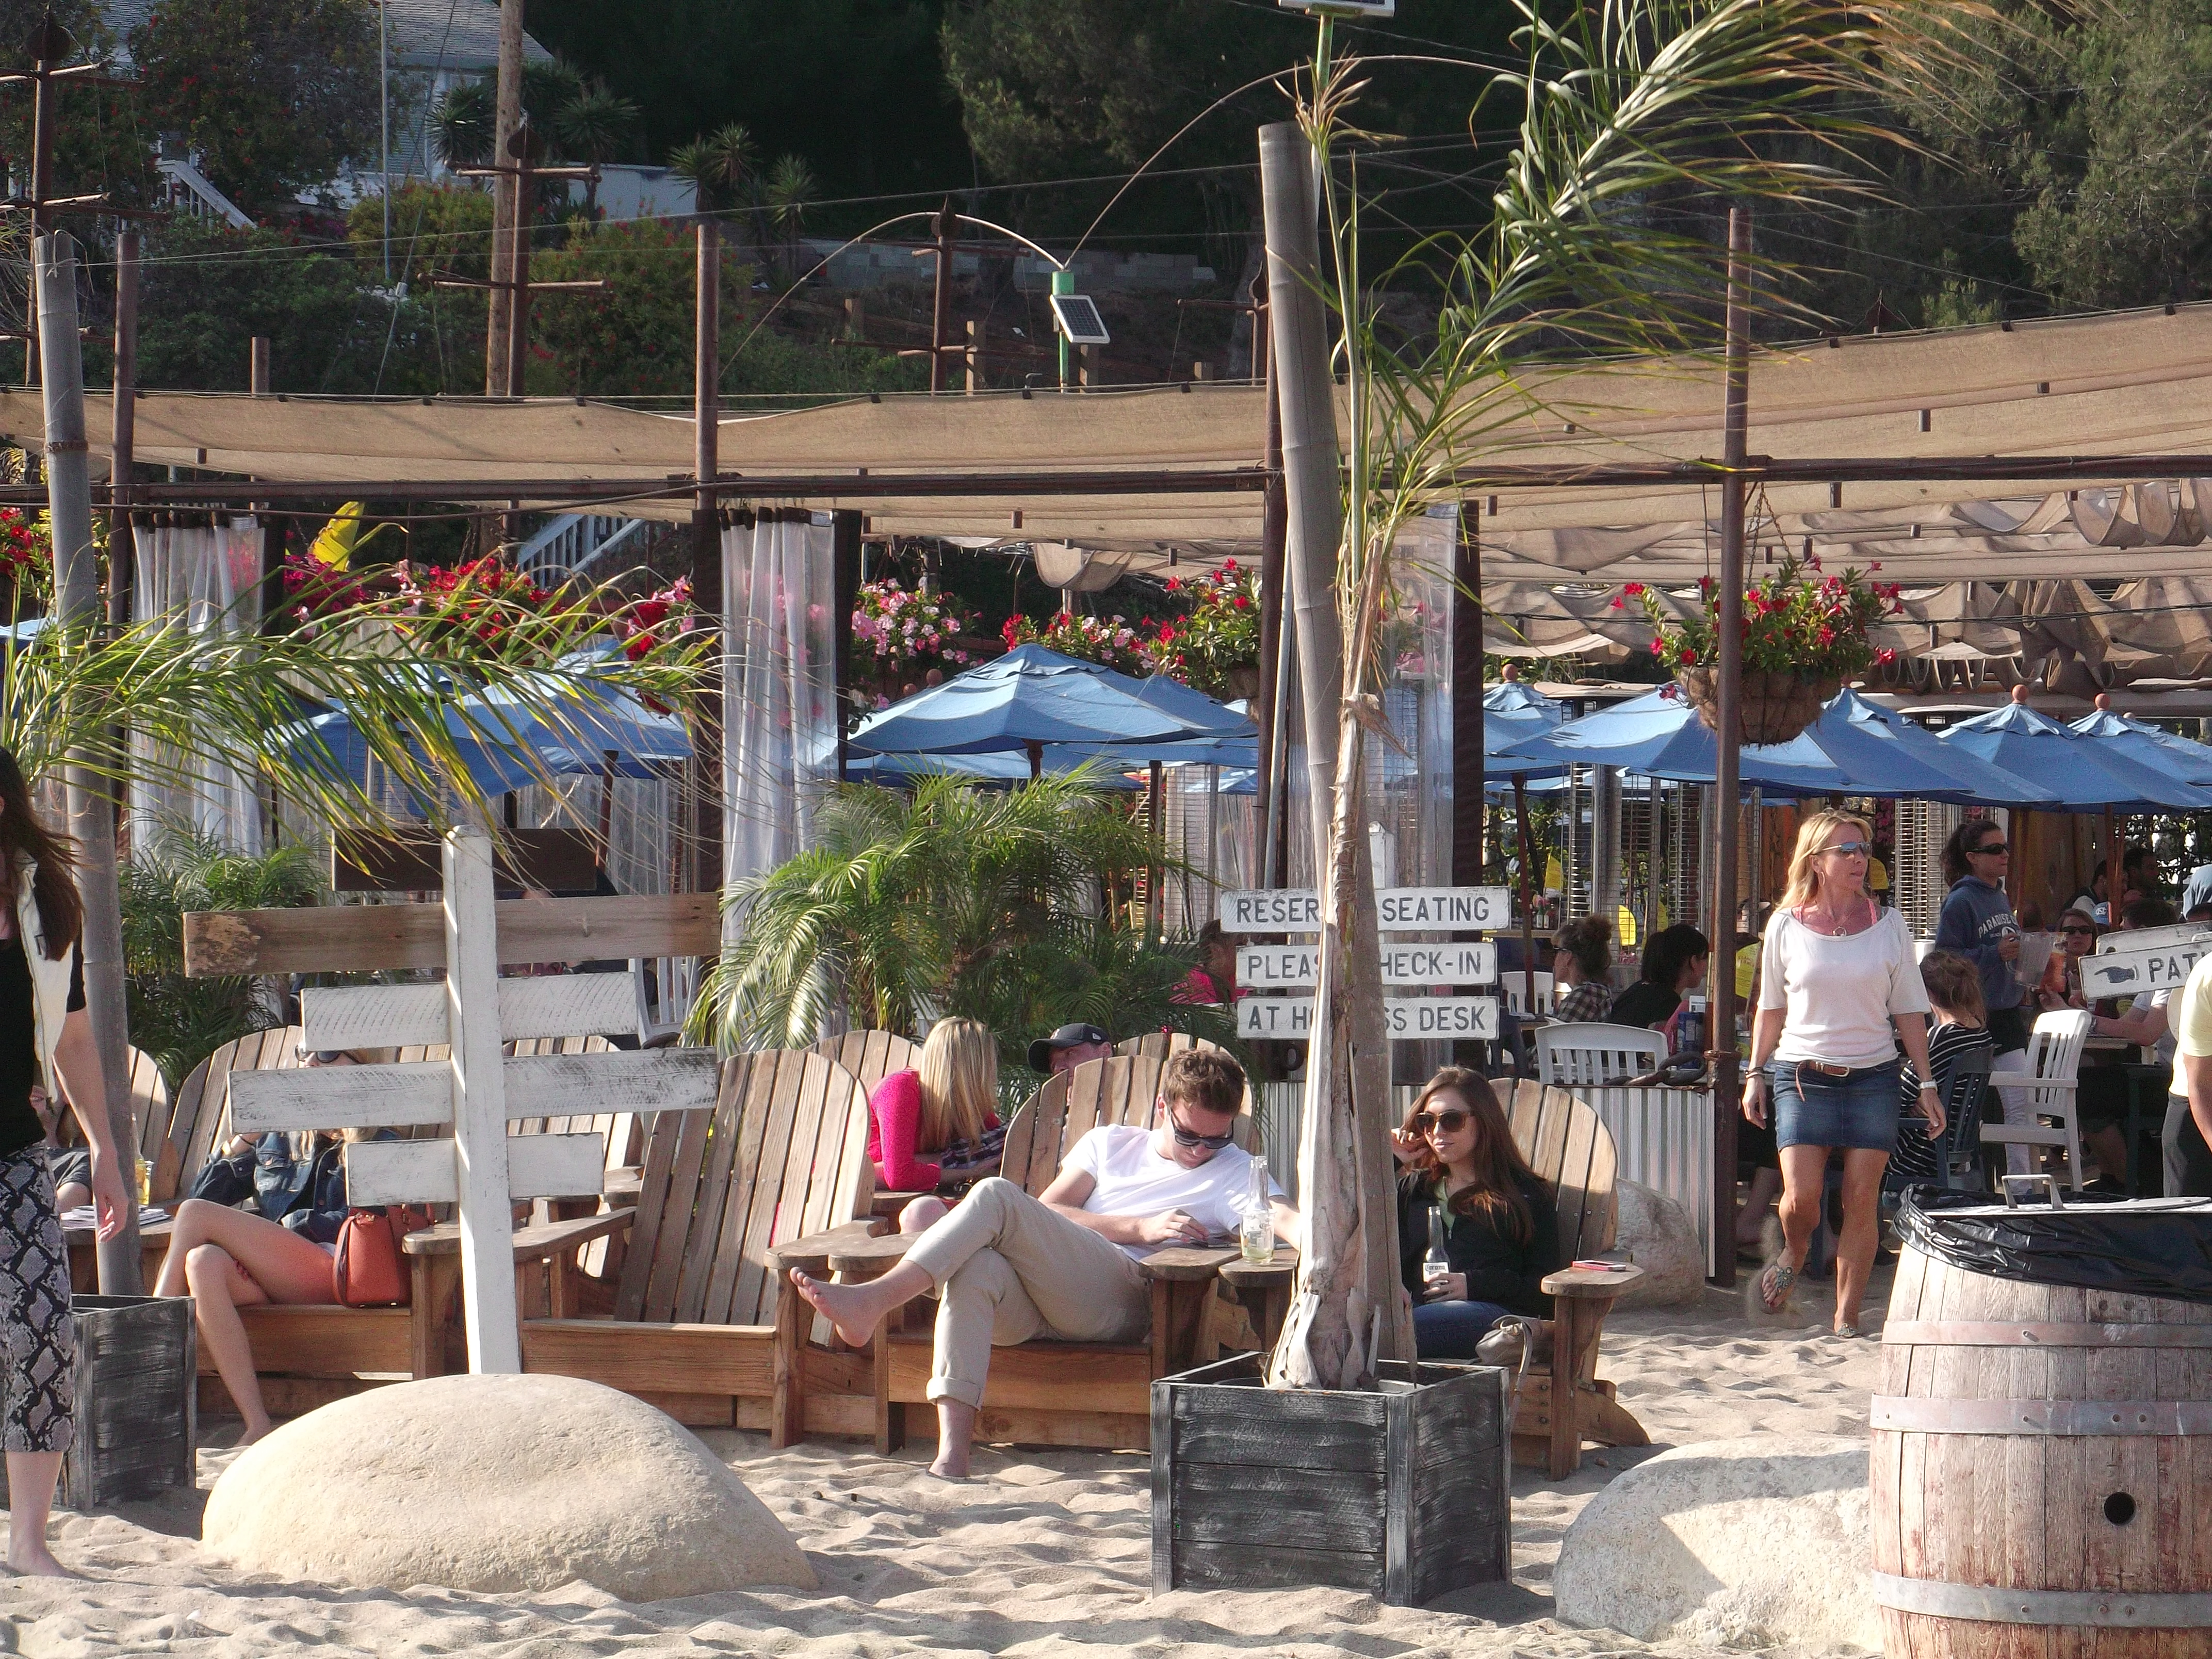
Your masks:
{"label": "thin rusty brown pole just left of the walking blonde woman", "polygon": [[[1728,210],[1728,394],[1721,458],[1743,467],[1750,422],[1750,252],[1752,215]],[[1719,796],[1719,858],[1712,880],[1712,1230],[1714,1281],[1736,1283],[1736,838],[1743,823],[1739,745],[1743,741],[1743,473],[1721,480],[1721,730],[1714,732],[1712,790]]]}

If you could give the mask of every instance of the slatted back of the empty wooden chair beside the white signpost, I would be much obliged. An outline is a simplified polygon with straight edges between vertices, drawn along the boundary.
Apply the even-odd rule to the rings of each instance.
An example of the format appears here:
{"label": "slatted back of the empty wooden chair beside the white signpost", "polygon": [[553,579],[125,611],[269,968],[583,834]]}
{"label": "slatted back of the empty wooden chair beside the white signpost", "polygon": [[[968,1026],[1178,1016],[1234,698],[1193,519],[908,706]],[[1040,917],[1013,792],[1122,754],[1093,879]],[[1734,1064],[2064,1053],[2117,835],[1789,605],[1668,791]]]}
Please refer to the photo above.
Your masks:
{"label": "slatted back of the empty wooden chair beside the white signpost", "polygon": [[867,1091],[807,1048],[730,1055],[712,1110],[659,1113],[615,1318],[770,1325],[772,1245],[865,1217]]}

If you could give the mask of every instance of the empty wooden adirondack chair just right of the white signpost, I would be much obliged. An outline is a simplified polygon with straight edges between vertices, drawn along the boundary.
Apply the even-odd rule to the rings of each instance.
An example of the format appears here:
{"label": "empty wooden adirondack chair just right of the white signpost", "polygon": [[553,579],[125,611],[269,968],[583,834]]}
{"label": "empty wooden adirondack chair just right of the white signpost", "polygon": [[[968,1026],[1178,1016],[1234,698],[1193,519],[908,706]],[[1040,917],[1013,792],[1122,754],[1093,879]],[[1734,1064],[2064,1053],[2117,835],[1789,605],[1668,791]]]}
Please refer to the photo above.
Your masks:
{"label": "empty wooden adirondack chair just right of the white signpost", "polygon": [[712,1110],[655,1117],[637,1208],[564,1223],[568,1248],[628,1232],[613,1318],[522,1321],[522,1369],[606,1383],[690,1425],[765,1427],[779,1447],[803,1429],[867,1433],[867,1363],[807,1340],[814,1312],[770,1250],[867,1217],[872,1190],[858,1077],[801,1048],[732,1055]]}

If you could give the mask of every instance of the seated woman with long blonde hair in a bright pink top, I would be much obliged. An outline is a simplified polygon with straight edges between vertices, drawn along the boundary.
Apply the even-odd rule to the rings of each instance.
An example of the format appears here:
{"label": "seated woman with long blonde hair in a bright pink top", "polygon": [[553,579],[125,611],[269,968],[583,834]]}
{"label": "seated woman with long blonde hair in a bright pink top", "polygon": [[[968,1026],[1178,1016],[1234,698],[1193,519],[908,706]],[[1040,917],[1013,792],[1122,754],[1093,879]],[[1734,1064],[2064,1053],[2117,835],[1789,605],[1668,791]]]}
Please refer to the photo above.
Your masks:
{"label": "seated woman with long blonde hair in a bright pink top", "polygon": [[[998,1037],[982,1020],[938,1020],[922,1044],[922,1064],[894,1071],[867,1102],[867,1155],[887,1192],[958,1190],[998,1175],[1006,1139],[998,1106]],[[925,1155],[931,1161],[925,1161]],[[916,1199],[898,1217],[900,1232],[920,1232],[942,1199]]]}

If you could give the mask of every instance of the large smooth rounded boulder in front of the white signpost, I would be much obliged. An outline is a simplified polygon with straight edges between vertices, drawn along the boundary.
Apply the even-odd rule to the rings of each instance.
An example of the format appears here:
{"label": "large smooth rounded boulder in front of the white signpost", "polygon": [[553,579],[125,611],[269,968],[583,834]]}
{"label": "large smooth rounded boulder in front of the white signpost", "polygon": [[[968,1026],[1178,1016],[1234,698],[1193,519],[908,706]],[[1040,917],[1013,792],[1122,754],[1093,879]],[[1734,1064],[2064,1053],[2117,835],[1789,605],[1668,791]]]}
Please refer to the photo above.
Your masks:
{"label": "large smooth rounded boulder in front of the white signpost", "polygon": [[440,1376],[310,1411],[223,1471],[201,1542],[248,1573],[349,1588],[814,1588],[792,1535],[690,1431],[566,1376]]}

